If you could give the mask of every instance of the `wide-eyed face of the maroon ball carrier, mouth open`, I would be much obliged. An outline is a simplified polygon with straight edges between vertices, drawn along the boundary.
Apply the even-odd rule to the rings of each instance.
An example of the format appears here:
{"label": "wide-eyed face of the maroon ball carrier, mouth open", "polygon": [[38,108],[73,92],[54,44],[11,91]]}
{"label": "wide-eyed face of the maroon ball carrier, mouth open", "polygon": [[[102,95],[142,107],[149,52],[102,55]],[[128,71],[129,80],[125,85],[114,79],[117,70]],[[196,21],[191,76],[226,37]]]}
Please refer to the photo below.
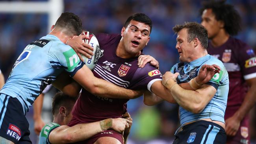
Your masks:
{"label": "wide-eyed face of the maroon ball carrier, mouth open", "polygon": [[150,26],[131,20],[127,28],[122,28],[121,35],[126,52],[131,55],[139,54],[146,46],[150,37]]}

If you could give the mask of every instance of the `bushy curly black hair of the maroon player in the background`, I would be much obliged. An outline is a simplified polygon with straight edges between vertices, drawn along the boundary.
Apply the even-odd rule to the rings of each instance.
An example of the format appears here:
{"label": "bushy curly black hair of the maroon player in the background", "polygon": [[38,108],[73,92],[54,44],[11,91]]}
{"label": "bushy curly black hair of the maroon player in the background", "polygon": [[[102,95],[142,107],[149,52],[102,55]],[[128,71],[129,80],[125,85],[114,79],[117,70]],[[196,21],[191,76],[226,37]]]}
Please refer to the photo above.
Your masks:
{"label": "bushy curly black hair of the maroon player in the background", "polygon": [[224,22],[224,29],[230,35],[237,35],[241,31],[241,17],[234,9],[234,6],[225,4],[225,0],[207,1],[202,3],[203,7],[200,9],[202,15],[205,9],[212,9],[216,20]]}

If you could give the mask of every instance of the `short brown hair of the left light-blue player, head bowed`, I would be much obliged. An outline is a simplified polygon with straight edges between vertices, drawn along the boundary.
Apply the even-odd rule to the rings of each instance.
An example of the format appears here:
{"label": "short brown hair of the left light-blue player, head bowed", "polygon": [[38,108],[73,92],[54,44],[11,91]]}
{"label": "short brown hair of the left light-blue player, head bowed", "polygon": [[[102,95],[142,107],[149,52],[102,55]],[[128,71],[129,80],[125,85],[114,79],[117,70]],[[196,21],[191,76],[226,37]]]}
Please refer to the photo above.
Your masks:
{"label": "short brown hair of the left light-blue player, head bowed", "polygon": [[65,28],[71,34],[80,35],[82,33],[82,20],[74,13],[64,12],[61,13],[54,27]]}

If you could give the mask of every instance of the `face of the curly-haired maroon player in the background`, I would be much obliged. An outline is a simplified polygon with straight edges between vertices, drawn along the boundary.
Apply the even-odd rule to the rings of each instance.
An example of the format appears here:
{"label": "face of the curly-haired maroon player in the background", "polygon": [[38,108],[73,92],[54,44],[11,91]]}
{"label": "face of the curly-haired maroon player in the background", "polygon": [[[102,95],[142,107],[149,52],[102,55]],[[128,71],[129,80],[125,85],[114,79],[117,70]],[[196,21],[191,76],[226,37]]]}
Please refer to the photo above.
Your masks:
{"label": "face of the curly-haired maroon player in the background", "polygon": [[203,11],[201,24],[208,31],[208,39],[213,39],[221,30],[221,21],[216,20],[212,9]]}

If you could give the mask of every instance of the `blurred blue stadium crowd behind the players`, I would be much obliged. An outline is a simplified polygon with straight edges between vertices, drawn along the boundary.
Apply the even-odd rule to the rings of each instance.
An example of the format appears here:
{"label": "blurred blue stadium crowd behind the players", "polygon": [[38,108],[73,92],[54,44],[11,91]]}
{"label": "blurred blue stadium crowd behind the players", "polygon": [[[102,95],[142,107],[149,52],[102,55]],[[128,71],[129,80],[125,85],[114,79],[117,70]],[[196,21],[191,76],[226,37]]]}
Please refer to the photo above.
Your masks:
{"label": "blurred blue stadium crowd behind the players", "polygon": [[[45,2],[47,0],[9,0],[7,2],[17,1]],[[228,0],[227,2],[234,5],[242,17],[243,31],[236,37],[255,49],[256,1]],[[54,7],[58,9],[59,6]],[[93,33],[120,33],[128,16],[137,12],[146,13],[152,19],[153,28],[150,42],[143,52],[152,55],[160,62],[162,73],[169,71],[171,66],[178,62],[173,26],[182,24],[184,21],[200,22],[198,13],[200,7],[201,0],[63,0],[64,11],[78,15],[83,21],[83,29]],[[0,12],[0,69],[6,79],[24,47],[49,32],[48,18],[47,13]],[[55,90],[52,89],[45,96],[42,113],[45,123],[52,120],[50,104],[54,92]],[[129,144],[172,142],[174,131],[179,124],[177,105],[163,102],[157,106],[148,107],[143,105],[143,98],[137,98],[128,102],[128,111],[133,118]],[[251,137],[252,142],[255,142],[255,107],[250,113]],[[36,143],[32,108],[26,116],[30,122],[30,138],[33,143]]]}

